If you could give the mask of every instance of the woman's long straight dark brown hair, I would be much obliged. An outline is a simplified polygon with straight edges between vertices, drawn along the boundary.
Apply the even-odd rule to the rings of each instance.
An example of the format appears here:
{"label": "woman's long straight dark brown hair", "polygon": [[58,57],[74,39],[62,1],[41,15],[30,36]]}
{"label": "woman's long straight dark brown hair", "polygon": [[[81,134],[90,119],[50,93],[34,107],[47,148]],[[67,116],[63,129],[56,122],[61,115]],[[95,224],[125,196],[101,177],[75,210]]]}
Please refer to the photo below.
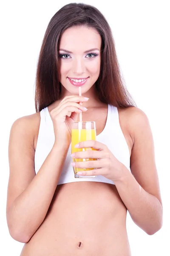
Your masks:
{"label": "woman's long straight dark brown hair", "polygon": [[72,26],[96,29],[102,38],[102,58],[95,86],[99,100],[118,108],[136,106],[123,84],[111,28],[98,9],[84,3],[70,3],[59,9],[46,29],[37,64],[35,108],[41,111],[61,93],[58,46],[63,32]]}

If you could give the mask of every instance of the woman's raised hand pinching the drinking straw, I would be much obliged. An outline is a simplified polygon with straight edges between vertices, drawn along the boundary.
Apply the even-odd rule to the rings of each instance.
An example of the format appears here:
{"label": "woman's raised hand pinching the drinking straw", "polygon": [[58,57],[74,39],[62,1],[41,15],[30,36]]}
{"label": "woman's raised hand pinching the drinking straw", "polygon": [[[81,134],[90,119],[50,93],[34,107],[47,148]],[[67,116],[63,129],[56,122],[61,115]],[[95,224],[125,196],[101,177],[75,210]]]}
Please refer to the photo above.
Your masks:
{"label": "woman's raised hand pinching the drinking straw", "polygon": [[87,102],[83,96],[66,96],[51,112],[55,143],[70,145],[71,124],[77,121],[79,113],[87,111],[79,102]]}

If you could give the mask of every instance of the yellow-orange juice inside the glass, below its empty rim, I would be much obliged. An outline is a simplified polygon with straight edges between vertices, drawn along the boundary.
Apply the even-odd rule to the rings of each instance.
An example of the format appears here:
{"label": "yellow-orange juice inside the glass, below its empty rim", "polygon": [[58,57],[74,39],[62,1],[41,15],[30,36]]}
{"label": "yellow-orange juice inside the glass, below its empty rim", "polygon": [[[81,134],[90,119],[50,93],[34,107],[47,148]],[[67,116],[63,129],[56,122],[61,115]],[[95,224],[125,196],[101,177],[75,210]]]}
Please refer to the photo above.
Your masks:
{"label": "yellow-orange juice inside the glass, below its empty rim", "polygon": [[[88,150],[96,150],[94,148],[74,148],[76,144],[82,141],[86,140],[96,140],[96,129],[72,129],[71,130],[71,153],[79,152],[79,151],[88,151]],[[73,158],[74,162],[85,162],[90,160],[96,160],[93,158],[86,158],[86,159],[80,159],[80,158]],[[81,172],[81,171],[90,171],[94,168],[75,168],[74,172]]]}

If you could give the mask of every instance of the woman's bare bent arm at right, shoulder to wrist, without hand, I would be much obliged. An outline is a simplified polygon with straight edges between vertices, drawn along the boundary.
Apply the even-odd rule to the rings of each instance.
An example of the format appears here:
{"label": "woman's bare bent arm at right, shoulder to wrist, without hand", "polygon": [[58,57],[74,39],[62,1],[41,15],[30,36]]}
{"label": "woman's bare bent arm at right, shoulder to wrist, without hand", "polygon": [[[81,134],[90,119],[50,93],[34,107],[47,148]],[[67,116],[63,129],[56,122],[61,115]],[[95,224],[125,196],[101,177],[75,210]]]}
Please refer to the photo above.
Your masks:
{"label": "woman's bare bent arm at right, shoulder to wrist, without hand", "polygon": [[116,188],[133,221],[147,234],[162,226],[162,201],[155,164],[153,136],[147,116],[139,108],[126,111],[133,148],[130,169],[124,166]]}

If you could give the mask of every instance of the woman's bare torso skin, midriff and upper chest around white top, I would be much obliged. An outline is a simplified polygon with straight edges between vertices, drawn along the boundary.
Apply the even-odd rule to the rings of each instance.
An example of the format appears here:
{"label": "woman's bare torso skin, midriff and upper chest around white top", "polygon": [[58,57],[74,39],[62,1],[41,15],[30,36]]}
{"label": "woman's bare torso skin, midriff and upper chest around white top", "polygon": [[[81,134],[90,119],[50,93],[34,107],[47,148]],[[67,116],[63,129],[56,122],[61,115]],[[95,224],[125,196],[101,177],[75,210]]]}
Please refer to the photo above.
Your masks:
{"label": "woman's bare torso skin, midriff and upper chest around white top", "polygon": [[[84,120],[96,121],[97,135],[105,128],[107,111],[108,105],[101,104],[83,113]],[[36,115],[40,123],[40,113]],[[131,154],[125,110],[119,110],[119,123]],[[36,130],[35,149],[38,125]],[[130,256],[126,214],[115,185],[89,181],[58,185],[44,221],[21,256]]]}

